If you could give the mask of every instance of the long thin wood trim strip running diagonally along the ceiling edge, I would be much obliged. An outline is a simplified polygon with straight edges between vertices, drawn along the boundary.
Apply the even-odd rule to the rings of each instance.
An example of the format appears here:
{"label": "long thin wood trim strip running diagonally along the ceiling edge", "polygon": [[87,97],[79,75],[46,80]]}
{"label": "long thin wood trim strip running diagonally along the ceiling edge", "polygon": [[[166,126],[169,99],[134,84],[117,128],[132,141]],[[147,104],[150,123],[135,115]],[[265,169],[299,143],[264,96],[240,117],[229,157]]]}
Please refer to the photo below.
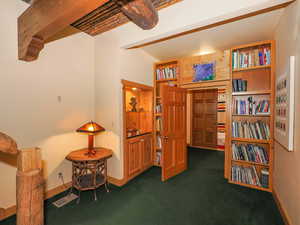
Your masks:
{"label": "long thin wood trim strip running diagonally along the ceiling edge", "polygon": [[146,42],[144,44],[137,44],[137,45],[134,45],[132,47],[128,47],[126,49],[142,48],[142,47],[145,47],[145,46],[148,46],[148,45],[152,45],[152,44],[160,43],[160,42],[163,42],[163,41],[171,40],[171,39],[174,39],[174,38],[177,38],[177,37],[192,34],[192,33],[195,33],[195,32],[202,31],[202,30],[207,30],[207,29],[210,29],[210,28],[214,28],[214,27],[217,27],[217,26],[224,25],[224,24],[232,23],[232,22],[235,22],[235,21],[238,21],[238,20],[246,19],[246,18],[249,18],[249,17],[252,17],[252,16],[257,16],[257,15],[260,15],[260,14],[268,13],[268,12],[271,12],[271,11],[274,11],[274,10],[277,10],[277,9],[284,8],[284,7],[288,6],[289,4],[291,4],[294,1],[285,2],[285,3],[279,4],[279,5],[275,5],[275,6],[272,6],[272,7],[265,8],[265,9],[260,9],[260,10],[257,10],[257,11],[251,12],[251,13],[247,13],[247,14],[244,14],[244,15],[241,15],[241,16],[236,16],[236,17],[233,17],[233,18],[230,18],[230,19],[225,19],[225,20],[222,20],[222,21],[219,21],[219,22],[216,22],[216,23],[208,24],[208,25],[205,25],[205,26],[200,26],[200,27],[188,30],[188,31],[173,34],[173,35],[170,35],[170,36],[167,36],[167,37],[164,37],[164,38],[160,38],[160,39],[157,39],[157,40],[154,40],[154,41],[149,41],[149,42]]}

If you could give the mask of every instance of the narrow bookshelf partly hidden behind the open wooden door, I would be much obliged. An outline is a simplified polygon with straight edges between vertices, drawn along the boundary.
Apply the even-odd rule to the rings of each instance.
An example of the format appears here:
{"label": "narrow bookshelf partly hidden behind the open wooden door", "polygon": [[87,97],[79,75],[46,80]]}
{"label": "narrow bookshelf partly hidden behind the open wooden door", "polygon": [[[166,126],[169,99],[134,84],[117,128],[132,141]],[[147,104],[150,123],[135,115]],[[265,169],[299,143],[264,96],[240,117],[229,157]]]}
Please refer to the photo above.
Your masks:
{"label": "narrow bookshelf partly hidden behind the open wooden door", "polygon": [[160,96],[160,89],[163,85],[178,86],[179,81],[179,61],[169,60],[164,62],[158,62],[154,64],[154,165],[161,167],[162,162],[162,102]]}

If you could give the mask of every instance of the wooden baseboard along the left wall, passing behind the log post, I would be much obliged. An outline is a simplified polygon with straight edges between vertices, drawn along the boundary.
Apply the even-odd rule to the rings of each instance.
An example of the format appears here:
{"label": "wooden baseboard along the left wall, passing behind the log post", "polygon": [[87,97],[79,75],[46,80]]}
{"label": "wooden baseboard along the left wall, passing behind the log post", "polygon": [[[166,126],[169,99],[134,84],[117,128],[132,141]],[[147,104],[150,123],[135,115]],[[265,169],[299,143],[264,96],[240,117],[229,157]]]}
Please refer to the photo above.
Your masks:
{"label": "wooden baseboard along the left wall, passing behind the log post", "polygon": [[[60,186],[55,187],[55,188],[53,188],[49,191],[46,191],[45,192],[45,200],[49,199],[49,198],[52,198],[53,196],[64,192],[65,190],[67,190],[71,186],[72,186],[72,182],[68,182],[65,185],[60,185]],[[17,212],[17,206],[16,205],[10,206],[6,209],[0,208],[0,221],[15,215],[16,212]]]}

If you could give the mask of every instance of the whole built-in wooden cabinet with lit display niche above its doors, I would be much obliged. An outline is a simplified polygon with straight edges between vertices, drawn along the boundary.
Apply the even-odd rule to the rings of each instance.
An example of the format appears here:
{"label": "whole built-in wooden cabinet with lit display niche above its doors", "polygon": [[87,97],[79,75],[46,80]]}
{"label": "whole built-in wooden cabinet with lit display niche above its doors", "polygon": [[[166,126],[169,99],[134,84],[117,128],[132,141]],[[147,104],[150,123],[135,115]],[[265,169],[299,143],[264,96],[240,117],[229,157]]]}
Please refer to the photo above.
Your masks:
{"label": "whole built-in wooden cabinet with lit display niche above its doors", "polygon": [[153,166],[153,87],[122,80],[125,184]]}

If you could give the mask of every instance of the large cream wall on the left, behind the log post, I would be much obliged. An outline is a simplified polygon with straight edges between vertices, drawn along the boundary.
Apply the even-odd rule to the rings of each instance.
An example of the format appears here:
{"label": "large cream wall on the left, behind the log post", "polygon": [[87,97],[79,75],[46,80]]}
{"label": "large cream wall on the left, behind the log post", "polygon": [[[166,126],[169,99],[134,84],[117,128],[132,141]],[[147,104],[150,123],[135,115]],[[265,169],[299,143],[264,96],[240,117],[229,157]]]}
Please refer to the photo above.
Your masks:
{"label": "large cream wall on the left, behind the log post", "polygon": [[[0,130],[20,148],[42,149],[47,188],[53,188],[61,185],[58,172],[71,180],[67,153],[87,145],[75,129],[94,117],[94,39],[77,34],[47,44],[35,62],[18,61],[16,20],[26,7],[0,1]],[[0,161],[0,208],[7,208],[15,205],[15,160],[1,158],[12,164]]]}

